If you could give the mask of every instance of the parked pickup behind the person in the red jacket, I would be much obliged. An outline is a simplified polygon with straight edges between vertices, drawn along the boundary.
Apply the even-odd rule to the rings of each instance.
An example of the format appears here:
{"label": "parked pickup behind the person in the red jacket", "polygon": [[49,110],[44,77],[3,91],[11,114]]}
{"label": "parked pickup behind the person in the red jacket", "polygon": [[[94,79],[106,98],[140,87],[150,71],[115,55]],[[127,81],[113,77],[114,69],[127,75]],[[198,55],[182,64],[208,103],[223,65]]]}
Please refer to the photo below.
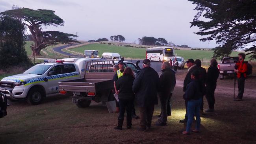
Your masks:
{"label": "parked pickup behind the person in the red jacket", "polygon": [[235,74],[235,62],[238,61],[238,57],[223,57],[218,64],[219,78],[223,79],[224,76]]}

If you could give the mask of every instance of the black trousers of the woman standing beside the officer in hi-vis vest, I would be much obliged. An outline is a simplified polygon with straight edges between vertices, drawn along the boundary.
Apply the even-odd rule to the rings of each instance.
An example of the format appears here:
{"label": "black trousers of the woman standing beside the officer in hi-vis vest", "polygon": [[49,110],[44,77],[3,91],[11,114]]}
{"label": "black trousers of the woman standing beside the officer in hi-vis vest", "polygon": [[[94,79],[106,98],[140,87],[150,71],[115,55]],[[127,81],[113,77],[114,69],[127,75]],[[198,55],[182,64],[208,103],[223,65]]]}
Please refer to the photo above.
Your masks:
{"label": "black trousers of the woman standing beside the officer in hi-vis vest", "polygon": [[119,99],[119,106],[120,106],[120,111],[119,111],[119,119],[124,119],[124,113],[125,113],[125,109],[126,109],[126,113],[127,113],[127,125],[130,126],[130,124],[132,122],[132,105],[134,103],[134,99],[130,99],[130,100],[122,100]]}

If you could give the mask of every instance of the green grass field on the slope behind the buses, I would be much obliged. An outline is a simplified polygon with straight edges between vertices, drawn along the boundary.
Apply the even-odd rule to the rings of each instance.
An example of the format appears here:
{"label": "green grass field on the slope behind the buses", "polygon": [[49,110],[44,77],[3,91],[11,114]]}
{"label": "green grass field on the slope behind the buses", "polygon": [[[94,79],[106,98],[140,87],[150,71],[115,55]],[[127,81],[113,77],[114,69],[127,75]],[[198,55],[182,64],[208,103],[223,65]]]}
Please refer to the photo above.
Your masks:
{"label": "green grass field on the slope behind the buses", "polygon": [[[99,55],[101,56],[103,52],[116,52],[125,58],[133,59],[145,59],[146,49],[145,48],[131,48],[124,46],[115,46],[108,44],[88,44],[85,46],[70,48],[69,50],[74,52],[79,52],[83,54],[84,50],[99,50]],[[67,51],[65,51],[67,52]],[[214,51],[206,50],[175,50],[177,56],[182,56],[184,59],[201,59],[210,60]],[[239,52],[232,52],[231,56],[237,56]],[[246,59],[248,60],[248,58]]]}

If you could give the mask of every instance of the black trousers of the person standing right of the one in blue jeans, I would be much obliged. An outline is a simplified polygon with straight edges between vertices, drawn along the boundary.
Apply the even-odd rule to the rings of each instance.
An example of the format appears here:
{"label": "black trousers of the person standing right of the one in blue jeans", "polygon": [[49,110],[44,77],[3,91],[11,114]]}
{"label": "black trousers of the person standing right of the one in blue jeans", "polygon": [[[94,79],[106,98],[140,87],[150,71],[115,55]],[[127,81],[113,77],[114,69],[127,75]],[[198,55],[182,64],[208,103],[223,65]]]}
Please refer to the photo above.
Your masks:
{"label": "black trousers of the person standing right of the one in blue jeans", "polygon": [[214,109],[215,104],[215,97],[214,97],[214,91],[216,89],[216,83],[208,83],[206,85],[206,100],[209,105],[209,109]]}

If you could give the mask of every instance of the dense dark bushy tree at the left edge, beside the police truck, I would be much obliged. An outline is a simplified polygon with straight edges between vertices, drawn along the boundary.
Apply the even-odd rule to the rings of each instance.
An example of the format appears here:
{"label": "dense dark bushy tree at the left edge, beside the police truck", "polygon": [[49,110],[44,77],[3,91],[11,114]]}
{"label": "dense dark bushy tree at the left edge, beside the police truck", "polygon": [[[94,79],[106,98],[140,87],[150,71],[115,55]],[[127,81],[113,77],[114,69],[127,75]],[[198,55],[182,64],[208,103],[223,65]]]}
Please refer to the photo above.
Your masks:
{"label": "dense dark bushy tree at the left edge, beside the police truck", "polygon": [[0,17],[0,68],[29,64],[25,44],[25,28],[17,18]]}

